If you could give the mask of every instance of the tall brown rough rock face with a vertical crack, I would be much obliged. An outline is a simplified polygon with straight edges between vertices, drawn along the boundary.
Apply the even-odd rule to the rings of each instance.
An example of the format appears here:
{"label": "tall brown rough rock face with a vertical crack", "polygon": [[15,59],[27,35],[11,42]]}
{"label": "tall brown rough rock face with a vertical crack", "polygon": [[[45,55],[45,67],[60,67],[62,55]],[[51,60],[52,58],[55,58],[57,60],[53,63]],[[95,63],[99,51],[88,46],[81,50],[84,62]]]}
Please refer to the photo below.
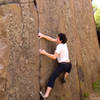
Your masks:
{"label": "tall brown rough rock face with a vertical crack", "polygon": [[0,0],[0,100],[42,100],[56,61],[40,56],[56,44],[38,32],[68,37],[72,71],[65,84],[56,80],[48,100],[82,100],[100,73],[98,45],[90,0]]}

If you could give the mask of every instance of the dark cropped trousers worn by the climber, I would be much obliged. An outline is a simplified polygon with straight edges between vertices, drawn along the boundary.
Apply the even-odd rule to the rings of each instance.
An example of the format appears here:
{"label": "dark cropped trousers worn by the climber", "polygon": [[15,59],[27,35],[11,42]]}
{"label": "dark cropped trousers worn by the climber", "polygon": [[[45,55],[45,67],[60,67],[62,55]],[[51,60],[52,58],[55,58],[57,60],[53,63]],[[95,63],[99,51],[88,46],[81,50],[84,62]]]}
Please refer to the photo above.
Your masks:
{"label": "dark cropped trousers worn by the climber", "polygon": [[48,81],[48,87],[51,87],[53,88],[54,87],[54,83],[55,83],[55,80],[57,79],[57,77],[62,73],[62,72],[68,72],[70,73],[71,71],[71,68],[72,68],[72,64],[69,62],[69,63],[59,63],[58,64],[58,67],[55,69],[55,71],[53,72],[53,74],[51,75],[49,81]]}

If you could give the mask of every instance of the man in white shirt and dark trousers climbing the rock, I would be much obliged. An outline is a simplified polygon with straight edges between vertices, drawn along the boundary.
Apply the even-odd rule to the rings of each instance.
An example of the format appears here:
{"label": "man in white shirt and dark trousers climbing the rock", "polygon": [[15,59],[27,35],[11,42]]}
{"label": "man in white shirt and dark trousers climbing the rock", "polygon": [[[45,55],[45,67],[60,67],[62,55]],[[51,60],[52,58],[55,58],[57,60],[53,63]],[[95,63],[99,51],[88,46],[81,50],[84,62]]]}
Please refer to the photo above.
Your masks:
{"label": "man in white shirt and dark trousers climbing the rock", "polygon": [[57,38],[54,39],[50,36],[44,35],[42,33],[38,33],[39,38],[44,38],[46,40],[52,41],[57,43],[57,47],[55,50],[54,54],[50,54],[48,52],[46,52],[45,50],[40,49],[39,52],[42,55],[45,55],[53,60],[58,60],[58,67],[56,68],[56,70],[53,72],[53,74],[51,75],[48,84],[47,84],[47,90],[45,92],[45,94],[43,94],[40,91],[40,94],[43,98],[48,98],[52,88],[54,87],[54,82],[56,80],[56,78],[63,72],[65,72],[63,81],[65,82],[67,76],[69,75],[71,68],[72,68],[72,64],[70,62],[69,59],[69,52],[68,52],[68,47],[67,47],[67,37],[64,33],[59,33]]}

